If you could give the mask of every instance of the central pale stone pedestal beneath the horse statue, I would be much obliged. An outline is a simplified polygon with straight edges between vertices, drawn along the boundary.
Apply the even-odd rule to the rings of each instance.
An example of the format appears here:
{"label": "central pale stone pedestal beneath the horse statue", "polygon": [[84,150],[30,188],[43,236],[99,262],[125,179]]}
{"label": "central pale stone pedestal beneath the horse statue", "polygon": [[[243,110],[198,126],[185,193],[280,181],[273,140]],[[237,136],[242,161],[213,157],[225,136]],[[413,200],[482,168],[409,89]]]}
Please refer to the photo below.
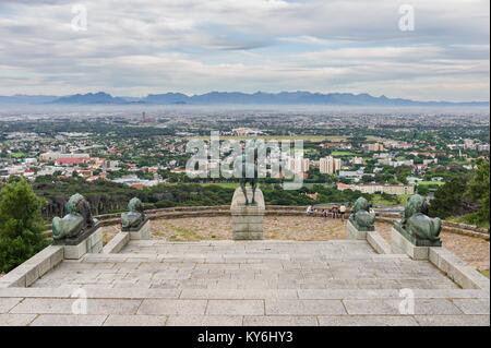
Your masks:
{"label": "central pale stone pedestal beneath the horse statue", "polygon": [[[249,202],[252,202],[252,189],[247,189]],[[266,213],[264,195],[261,190],[255,191],[255,204],[246,205],[246,197],[240,188],[233,193],[230,206],[232,217],[233,240],[264,239],[263,220]]]}

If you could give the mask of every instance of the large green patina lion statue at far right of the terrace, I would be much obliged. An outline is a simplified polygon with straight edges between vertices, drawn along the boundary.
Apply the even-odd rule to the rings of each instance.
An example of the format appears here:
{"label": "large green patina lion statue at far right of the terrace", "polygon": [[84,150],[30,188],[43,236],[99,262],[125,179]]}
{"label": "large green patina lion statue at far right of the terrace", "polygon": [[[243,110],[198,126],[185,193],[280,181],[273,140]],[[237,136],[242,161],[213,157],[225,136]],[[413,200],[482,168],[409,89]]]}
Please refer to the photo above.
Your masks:
{"label": "large green patina lion statue at far right of the terrace", "polygon": [[442,247],[442,220],[429,217],[428,209],[424,197],[415,194],[406,205],[403,219],[396,221],[394,227],[417,247]]}

